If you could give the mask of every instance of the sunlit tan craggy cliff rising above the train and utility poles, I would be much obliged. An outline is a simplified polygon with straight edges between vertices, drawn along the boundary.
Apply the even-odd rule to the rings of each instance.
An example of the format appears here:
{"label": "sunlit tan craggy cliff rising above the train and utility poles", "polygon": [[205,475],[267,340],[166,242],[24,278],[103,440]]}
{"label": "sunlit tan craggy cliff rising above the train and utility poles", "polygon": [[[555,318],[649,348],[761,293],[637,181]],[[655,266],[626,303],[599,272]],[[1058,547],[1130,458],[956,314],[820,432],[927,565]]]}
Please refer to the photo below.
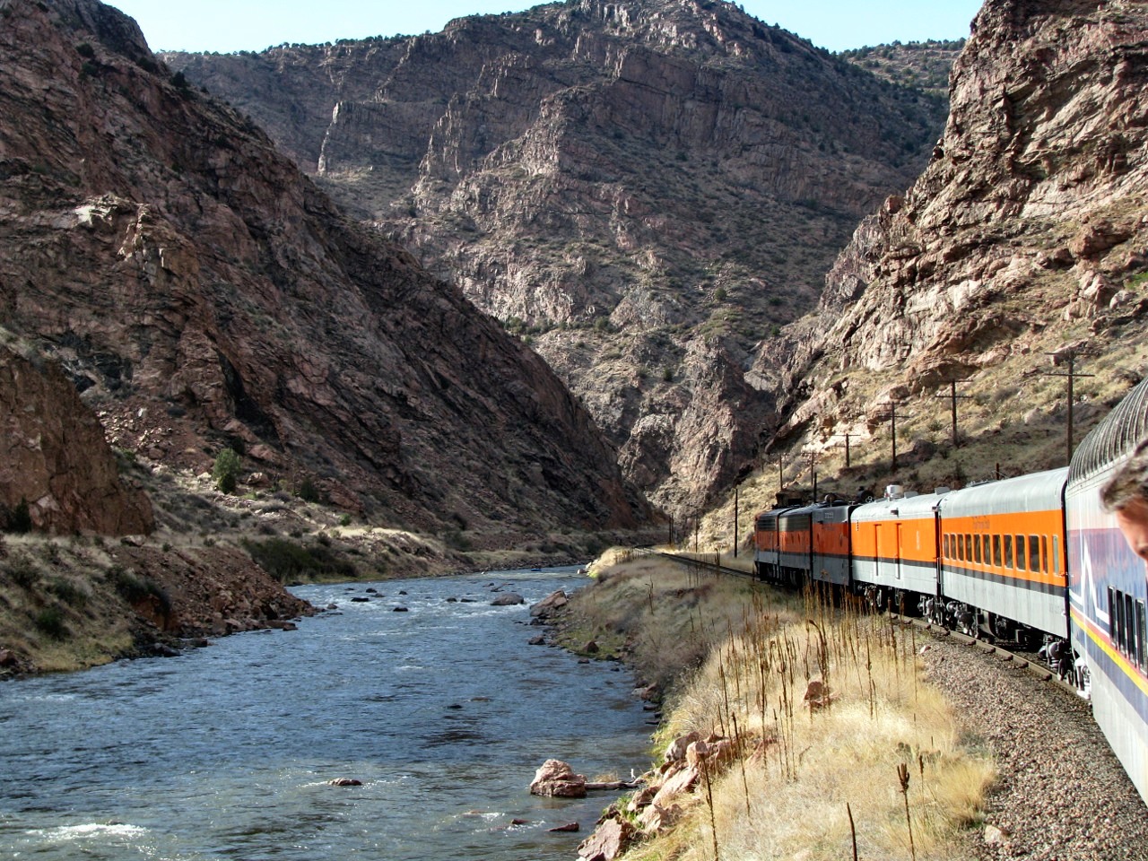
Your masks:
{"label": "sunlit tan craggy cliff rising above the train and utility poles", "polygon": [[882,388],[1015,390],[1045,354],[1103,357],[1107,382],[1148,370],[1126,349],[1148,325],[1146,37],[1140,3],[985,3],[928,169],[856,230],[817,315],[758,356],[783,437],[815,418],[832,433]]}

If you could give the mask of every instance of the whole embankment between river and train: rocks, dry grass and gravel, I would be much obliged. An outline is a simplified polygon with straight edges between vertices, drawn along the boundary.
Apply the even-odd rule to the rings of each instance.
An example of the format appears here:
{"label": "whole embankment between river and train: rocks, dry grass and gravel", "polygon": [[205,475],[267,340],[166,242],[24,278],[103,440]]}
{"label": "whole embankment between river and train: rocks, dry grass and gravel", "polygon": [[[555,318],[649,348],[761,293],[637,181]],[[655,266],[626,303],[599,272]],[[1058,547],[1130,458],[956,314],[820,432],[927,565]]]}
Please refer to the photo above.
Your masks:
{"label": "whole embankment between river and train: rocks, dry grass and gravel", "polygon": [[626,859],[1148,858],[1148,807],[1062,688],[701,566],[594,572],[557,636],[660,707],[650,788],[604,825]]}

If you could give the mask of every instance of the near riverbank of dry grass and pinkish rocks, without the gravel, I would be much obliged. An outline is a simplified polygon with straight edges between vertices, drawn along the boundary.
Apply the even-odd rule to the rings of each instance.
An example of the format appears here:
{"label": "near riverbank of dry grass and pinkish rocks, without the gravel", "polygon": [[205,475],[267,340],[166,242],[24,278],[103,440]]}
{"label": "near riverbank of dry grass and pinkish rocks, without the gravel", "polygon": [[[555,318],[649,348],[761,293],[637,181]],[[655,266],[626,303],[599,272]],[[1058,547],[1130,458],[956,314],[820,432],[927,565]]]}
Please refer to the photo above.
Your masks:
{"label": "near riverbank of dry grass and pinkish rocks, without the gravel", "polygon": [[626,660],[664,704],[662,789],[606,825],[626,859],[969,858],[994,760],[912,630],[649,556],[592,572],[557,638]]}

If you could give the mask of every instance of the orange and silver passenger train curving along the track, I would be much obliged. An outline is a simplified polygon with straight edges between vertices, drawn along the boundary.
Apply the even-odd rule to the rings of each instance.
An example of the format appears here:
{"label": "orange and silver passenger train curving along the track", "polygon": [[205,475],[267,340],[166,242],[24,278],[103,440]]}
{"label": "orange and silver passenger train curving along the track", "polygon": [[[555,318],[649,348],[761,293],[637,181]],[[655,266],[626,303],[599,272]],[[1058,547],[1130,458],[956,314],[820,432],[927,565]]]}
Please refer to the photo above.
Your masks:
{"label": "orange and silver passenger train curving along the track", "polygon": [[860,596],[1037,651],[1091,700],[1148,802],[1148,579],[1100,489],[1148,437],[1148,378],[1066,467],[882,498],[790,502],[754,517],[754,574]]}

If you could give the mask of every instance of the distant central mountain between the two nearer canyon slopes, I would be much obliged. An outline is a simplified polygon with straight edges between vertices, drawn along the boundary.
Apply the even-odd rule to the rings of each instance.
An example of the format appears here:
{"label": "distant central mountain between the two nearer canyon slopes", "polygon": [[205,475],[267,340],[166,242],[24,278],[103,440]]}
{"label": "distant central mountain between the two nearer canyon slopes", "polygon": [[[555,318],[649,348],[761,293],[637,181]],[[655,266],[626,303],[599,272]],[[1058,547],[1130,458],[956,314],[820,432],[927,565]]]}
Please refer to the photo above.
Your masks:
{"label": "distant central mountain between the two nearer canyon slopes", "polygon": [[721,0],[165,59],[532,339],[677,512],[751,457],[773,408],[754,344],[813,305],[944,116]]}

